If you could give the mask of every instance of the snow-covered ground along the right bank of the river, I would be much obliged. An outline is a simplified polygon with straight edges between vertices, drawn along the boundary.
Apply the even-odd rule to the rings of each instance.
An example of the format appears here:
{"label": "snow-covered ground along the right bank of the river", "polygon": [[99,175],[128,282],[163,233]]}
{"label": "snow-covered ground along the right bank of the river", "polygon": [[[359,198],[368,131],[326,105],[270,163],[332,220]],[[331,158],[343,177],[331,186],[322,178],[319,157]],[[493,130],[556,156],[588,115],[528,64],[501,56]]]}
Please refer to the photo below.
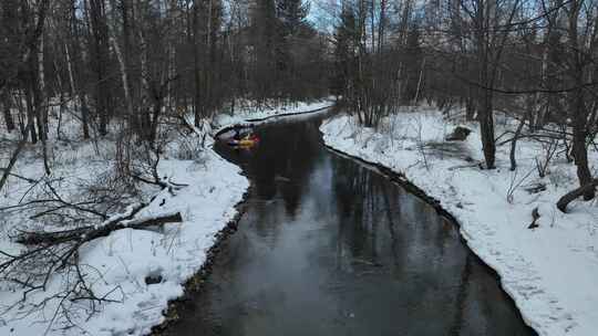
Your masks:
{"label": "snow-covered ground along the right bank of the river", "polygon": [[[515,124],[497,116],[496,133]],[[463,143],[445,141],[456,125],[474,132]],[[522,139],[517,170],[509,170],[509,145],[498,148],[497,169],[482,170],[475,164],[483,159],[477,126],[431,107],[405,108],[378,130],[347,115],[324,122],[320,130],[328,146],[389,167],[440,200],[539,335],[597,335],[598,207],[576,201],[567,214],[556,208],[558,198],[578,186],[575,166],[563,153],[540,178],[536,158],[545,158],[547,145]],[[590,161],[597,168],[595,151]],[[526,191],[536,183],[546,190]],[[536,207],[539,227],[530,230]]]}

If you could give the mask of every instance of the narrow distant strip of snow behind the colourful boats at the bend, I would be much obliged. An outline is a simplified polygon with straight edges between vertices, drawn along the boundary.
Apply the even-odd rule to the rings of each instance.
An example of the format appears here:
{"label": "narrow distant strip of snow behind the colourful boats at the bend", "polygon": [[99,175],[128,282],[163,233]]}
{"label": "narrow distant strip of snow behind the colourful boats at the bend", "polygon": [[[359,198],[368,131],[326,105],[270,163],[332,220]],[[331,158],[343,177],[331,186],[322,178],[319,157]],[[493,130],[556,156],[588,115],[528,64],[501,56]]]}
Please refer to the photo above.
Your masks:
{"label": "narrow distant strip of snow behind the colourful boats at the bend", "polygon": [[334,97],[322,98],[313,102],[298,102],[287,105],[262,104],[256,105],[251,102],[238,104],[233,113],[223,113],[218,115],[214,124],[215,133],[236,124],[259,124],[266,119],[272,119],[279,116],[303,114],[310,112],[323,111],[334,105]]}

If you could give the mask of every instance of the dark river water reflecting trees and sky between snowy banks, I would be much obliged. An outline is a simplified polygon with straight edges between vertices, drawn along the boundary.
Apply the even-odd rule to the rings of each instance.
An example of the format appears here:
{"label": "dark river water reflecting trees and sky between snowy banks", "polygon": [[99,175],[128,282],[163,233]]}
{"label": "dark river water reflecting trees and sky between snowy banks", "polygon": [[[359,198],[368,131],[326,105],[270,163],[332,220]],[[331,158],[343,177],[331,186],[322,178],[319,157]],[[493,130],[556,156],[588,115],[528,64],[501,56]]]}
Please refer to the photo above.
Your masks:
{"label": "dark river water reflecting trees and sky between snowy banks", "polygon": [[419,198],[328,151],[321,117],[220,147],[255,188],[239,230],[172,335],[535,335]]}

